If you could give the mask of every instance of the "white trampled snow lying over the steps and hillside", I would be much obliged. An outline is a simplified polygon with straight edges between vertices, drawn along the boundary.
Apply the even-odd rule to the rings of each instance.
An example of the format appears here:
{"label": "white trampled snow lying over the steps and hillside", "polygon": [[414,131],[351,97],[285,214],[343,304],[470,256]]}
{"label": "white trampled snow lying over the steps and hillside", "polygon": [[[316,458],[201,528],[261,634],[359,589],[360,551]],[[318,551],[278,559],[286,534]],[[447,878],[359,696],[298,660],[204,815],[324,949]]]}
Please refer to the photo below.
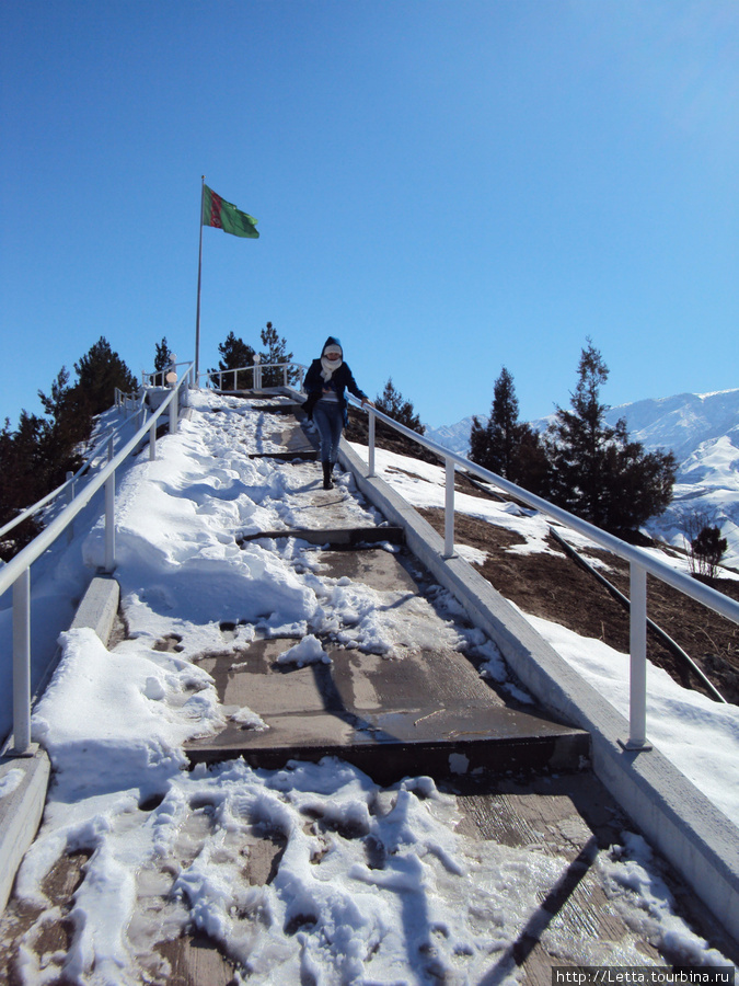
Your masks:
{"label": "white trampled snow lying over the steps and hillside", "polygon": [[[334,759],[281,770],[254,770],[243,760],[184,769],[185,741],[212,734],[227,715],[212,679],[194,663],[199,655],[279,634],[299,639],[282,660],[327,661],[316,635],[325,632],[380,655],[399,642],[424,645],[425,634],[439,644],[438,620],[429,630],[424,599],[401,616],[393,594],[330,577],[310,546],[292,537],[240,547],[244,534],[293,526],[309,467],[249,458],[249,450],[265,448],[266,413],[206,393],[193,393],[190,403],[190,419],[159,443],[158,459],[132,462],[119,479],[116,577],[127,639],[108,650],[92,631],[62,632],[60,663],[34,710],[33,736],[49,752],[55,782],[16,893],[49,909],[23,943],[22,981],[43,986],[66,976],[125,986],[140,982],[141,968],[162,981],[166,967],[154,945],[197,928],[242,963],[235,982],[462,984],[480,982],[493,966],[500,982],[517,982],[510,949],[563,875],[563,857],[464,835],[455,799],[429,778],[383,789]],[[381,451],[378,467],[411,502],[442,502],[442,470]],[[357,518],[373,519],[349,475],[338,477],[337,494]],[[551,551],[546,525],[532,512],[463,496],[458,508],[519,534],[518,550]],[[101,523],[77,530],[35,580],[37,619],[45,599],[59,608],[61,584],[79,586],[102,561]],[[462,643],[485,656],[485,673],[505,681],[494,645],[481,631],[462,633],[453,609],[450,599],[446,642],[460,645],[466,635]],[[7,632],[9,610],[0,617]],[[533,622],[623,707],[624,655]],[[0,673],[9,680],[8,647],[2,655]],[[649,687],[650,738],[739,817],[737,710],[655,669]],[[265,727],[249,708],[228,714]],[[18,782],[7,775],[0,798]],[[284,851],[274,880],[251,884],[244,867],[257,835]],[[68,916],[71,945],[41,963],[33,936],[59,916],[44,880],[76,850],[91,855]],[[630,927],[648,929],[686,961],[727,964],[676,916],[637,836],[625,833],[624,845],[598,852],[596,864]],[[574,940],[556,922],[542,935],[565,962],[647,961],[635,940],[614,950]]]}

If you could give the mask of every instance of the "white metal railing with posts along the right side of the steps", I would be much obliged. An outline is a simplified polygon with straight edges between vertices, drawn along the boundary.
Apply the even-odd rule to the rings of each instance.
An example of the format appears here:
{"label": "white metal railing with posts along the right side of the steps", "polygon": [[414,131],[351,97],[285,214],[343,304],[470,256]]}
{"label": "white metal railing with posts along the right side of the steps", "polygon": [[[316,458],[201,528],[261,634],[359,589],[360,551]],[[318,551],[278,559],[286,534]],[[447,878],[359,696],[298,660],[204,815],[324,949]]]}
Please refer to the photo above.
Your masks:
{"label": "white metal railing with posts along the right side of the steps", "polygon": [[[359,404],[354,398],[353,403]],[[696,582],[690,575],[679,572],[670,565],[654,558],[648,552],[636,548],[633,544],[622,541],[620,538],[601,530],[587,520],[576,517],[574,514],[549,503],[541,496],[529,493],[516,483],[483,469],[475,462],[465,459],[457,452],[431,442],[418,432],[414,432],[405,425],[393,421],[381,411],[374,408],[366,406],[369,414],[369,444],[368,444],[368,472],[367,475],[376,475],[374,470],[374,433],[376,420],[384,422],[396,432],[416,442],[429,451],[435,452],[444,462],[446,472],[446,496],[444,496],[444,558],[452,558],[454,554],[454,471],[459,467],[480,479],[494,483],[500,490],[516,496],[535,511],[540,511],[547,517],[556,520],[573,530],[578,531],[585,537],[594,541],[607,551],[613,552],[619,558],[628,562],[630,565],[630,584],[631,584],[631,606],[630,606],[630,731],[628,738],[624,743],[627,749],[644,749],[648,746],[646,738],[646,716],[647,716],[647,573],[659,578],[661,582],[671,585],[678,592],[690,596],[697,603],[707,606],[720,616],[726,617],[735,623],[739,623],[739,603],[725,596],[723,593]]]}

